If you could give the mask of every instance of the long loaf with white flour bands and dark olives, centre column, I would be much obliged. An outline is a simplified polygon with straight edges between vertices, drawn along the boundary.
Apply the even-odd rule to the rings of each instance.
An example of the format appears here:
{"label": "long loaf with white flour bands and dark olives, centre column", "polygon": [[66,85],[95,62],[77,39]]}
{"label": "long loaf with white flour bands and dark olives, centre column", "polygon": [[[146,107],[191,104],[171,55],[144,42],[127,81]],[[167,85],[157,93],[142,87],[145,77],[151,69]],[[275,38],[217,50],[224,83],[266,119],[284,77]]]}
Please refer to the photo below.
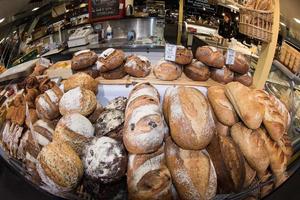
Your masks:
{"label": "long loaf with white flour bands and dark olives, centre column", "polygon": [[161,147],[167,130],[159,94],[150,84],[139,84],[130,93],[125,111],[123,141],[130,153],[144,154]]}

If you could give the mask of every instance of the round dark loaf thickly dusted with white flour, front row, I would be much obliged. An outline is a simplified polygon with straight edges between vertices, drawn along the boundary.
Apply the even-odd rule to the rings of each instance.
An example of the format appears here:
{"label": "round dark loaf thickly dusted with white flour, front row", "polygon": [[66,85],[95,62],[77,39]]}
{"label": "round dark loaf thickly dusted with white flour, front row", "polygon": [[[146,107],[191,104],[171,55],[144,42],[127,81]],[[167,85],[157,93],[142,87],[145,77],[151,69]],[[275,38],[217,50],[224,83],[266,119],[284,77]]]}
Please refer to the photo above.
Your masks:
{"label": "round dark loaf thickly dusted with white flour, front row", "polygon": [[95,138],[84,150],[83,166],[88,179],[102,183],[117,181],[126,173],[126,151],[112,138]]}

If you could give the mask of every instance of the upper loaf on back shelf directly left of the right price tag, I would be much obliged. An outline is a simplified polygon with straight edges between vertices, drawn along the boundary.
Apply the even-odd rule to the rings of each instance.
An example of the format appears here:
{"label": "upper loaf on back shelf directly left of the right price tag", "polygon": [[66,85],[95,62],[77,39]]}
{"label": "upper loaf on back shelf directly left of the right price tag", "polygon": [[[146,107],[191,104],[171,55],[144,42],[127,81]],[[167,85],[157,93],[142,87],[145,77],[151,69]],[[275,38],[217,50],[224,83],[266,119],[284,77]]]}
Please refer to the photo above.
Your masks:
{"label": "upper loaf on back shelf directly left of the right price tag", "polygon": [[225,57],[223,56],[223,53],[215,47],[198,47],[195,57],[197,60],[210,67],[221,69],[225,66]]}

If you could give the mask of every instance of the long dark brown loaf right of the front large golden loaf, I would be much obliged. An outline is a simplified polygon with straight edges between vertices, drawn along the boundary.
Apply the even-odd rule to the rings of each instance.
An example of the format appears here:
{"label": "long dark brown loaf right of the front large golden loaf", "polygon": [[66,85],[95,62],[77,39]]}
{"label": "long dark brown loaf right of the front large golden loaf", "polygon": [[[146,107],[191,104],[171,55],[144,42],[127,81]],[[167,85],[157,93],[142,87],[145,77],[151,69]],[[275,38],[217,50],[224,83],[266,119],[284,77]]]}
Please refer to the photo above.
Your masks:
{"label": "long dark brown loaf right of the front large golden loaf", "polygon": [[207,151],[216,169],[218,193],[229,194],[243,189],[245,162],[240,149],[230,137],[215,135]]}

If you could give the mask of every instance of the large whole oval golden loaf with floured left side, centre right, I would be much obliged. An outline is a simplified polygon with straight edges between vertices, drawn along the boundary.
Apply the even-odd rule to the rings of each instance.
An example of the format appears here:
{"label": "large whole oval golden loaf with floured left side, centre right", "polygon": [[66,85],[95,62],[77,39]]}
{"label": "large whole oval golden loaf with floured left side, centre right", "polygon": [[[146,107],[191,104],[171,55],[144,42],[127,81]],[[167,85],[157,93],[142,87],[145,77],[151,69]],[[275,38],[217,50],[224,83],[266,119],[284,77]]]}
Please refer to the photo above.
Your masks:
{"label": "large whole oval golden loaf with floured left side, centre right", "polygon": [[167,105],[172,139],[183,149],[204,149],[211,141],[215,124],[205,96],[195,88],[173,88]]}

